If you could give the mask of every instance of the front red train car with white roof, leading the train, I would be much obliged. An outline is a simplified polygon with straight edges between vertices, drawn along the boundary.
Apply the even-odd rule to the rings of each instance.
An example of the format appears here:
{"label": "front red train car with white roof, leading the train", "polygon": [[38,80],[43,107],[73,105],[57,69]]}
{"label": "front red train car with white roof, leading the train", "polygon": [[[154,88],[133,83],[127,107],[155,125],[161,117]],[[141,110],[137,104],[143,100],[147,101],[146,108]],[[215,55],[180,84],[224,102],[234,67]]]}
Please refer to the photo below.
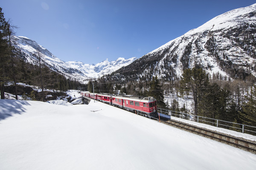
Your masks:
{"label": "front red train car with white roof, leading the train", "polygon": [[154,97],[125,95],[122,98],[123,108],[128,111],[144,113],[148,116],[157,114],[157,101]]}

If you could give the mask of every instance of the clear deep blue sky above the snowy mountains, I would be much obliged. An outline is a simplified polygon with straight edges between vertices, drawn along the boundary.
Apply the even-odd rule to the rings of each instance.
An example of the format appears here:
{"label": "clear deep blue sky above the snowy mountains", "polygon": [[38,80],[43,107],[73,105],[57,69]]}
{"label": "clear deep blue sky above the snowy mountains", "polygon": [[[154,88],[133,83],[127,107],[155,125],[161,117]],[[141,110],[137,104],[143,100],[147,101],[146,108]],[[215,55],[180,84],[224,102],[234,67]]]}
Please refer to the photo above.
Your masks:
{"label": "clear deep blue sky above the snowy mountains", "polygon": [[0,0],[17,36],[64,61],[140,58],[208,20],[255,0]]}

